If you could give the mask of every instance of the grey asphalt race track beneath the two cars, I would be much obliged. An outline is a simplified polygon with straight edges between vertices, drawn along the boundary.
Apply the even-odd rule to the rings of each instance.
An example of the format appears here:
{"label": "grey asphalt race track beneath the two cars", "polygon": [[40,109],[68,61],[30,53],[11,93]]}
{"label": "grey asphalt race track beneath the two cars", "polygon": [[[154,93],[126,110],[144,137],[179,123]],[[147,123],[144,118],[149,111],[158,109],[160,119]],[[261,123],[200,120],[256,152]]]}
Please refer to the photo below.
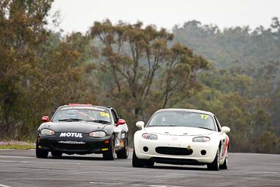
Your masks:
{"label": "grey asphalt race track beneath the two cars", "polygon": [[280,186],[280,155],[230,153],[228,170],[206,166],[132,167],[101,155],[35,157],[34,150],[0,151],[0,187],[8,186]]}

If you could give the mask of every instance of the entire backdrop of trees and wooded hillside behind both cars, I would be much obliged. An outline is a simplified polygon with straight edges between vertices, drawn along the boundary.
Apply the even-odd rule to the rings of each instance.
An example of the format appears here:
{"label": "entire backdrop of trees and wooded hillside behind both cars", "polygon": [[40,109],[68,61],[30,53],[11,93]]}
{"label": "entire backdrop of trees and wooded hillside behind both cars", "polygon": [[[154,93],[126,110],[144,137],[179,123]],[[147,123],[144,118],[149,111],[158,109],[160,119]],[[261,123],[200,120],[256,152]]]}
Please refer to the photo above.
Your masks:
{"label": "entire backdrop of trees and wooded hillside behind both cars", "polygon": [[116,108],[130,142],[137,120],[177,107],[215,113],[231,151],[280,153],[278,18],[253,31],[194,20],[173,34],[104,20],[61,36],[46,29],[51,4],[0,1],[0,139],[33,140],[41,116],[80,102]]}

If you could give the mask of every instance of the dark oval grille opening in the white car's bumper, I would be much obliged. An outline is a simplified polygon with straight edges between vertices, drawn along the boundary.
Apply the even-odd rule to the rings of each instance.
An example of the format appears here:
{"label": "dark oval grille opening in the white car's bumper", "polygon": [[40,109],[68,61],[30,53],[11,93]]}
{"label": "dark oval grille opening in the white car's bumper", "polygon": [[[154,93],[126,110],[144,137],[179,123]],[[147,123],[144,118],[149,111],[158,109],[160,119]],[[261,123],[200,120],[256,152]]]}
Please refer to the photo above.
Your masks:
{"label": "dark oval grille opening in the white car's bumper", "polygon": [[155,148],[157,153],[163,155],[191,155],[193,154],[193,149],[180,148],[180,147],[157,147]]}

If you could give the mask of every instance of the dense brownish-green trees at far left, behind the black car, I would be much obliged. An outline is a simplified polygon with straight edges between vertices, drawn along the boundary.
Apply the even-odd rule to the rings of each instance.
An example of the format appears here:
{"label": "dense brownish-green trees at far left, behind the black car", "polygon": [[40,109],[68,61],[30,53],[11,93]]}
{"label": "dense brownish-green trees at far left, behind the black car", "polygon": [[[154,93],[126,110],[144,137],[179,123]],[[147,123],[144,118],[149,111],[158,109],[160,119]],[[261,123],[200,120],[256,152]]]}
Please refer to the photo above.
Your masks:
{"label": "dense brownish-green trees at far left, behind the black car", "polygon": [[83,74],[87,40],[81,34],[60,39],[45,29],[51,3],[0,3],[0,137],[34,137],[43,114],[93,92]]}

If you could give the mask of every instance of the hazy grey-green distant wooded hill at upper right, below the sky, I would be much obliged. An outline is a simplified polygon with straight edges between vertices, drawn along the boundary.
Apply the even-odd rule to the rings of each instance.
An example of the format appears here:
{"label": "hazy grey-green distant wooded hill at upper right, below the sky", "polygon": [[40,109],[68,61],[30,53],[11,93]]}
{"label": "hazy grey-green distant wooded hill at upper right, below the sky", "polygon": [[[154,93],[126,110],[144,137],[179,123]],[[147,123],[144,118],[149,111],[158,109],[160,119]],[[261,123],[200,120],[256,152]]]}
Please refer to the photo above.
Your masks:
{"label": "hazy grey-green distant wooded hill at upper right, below the sky", "polygon": [[219,29],[216,25],[202,25],[193,20],[183,27],[174,27],[174,41],[192,48],[195,53],[214,62],[215,67],[228,67],[232,62],[244,66],[258,66],[263,62],[280,61],[280,25],[278,18],[265,29],[231,27]]}

